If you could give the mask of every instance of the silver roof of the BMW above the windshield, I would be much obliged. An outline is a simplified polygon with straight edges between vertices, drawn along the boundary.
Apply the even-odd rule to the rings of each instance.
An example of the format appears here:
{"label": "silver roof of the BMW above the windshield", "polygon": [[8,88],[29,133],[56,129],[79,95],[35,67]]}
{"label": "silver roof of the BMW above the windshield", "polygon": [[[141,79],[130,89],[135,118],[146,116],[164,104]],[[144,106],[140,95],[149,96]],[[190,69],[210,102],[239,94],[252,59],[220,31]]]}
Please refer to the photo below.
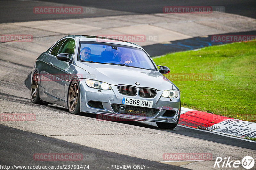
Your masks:
{"label": "silver roof of the BMW above the windshield", "polygon": [[[141,48],[141,46],[135,44],[135,43],[131,43],[128,41],[123,41],[123,40],[119,40],[119,39],[111,39],[111,38],[107,38],[107,37],[98,37],[98,36],[91,36],[91,35],[68,35],[67,37],[73,37],[73,38],[80,38],[80,41],[95,41],[95,42],[106,42],[106,43],[111,43],[111,44],[119,44],[119,45],[124,45],[124,46],[132,46],[132,47],[137,47],[137,48]],[[104,41],[104,39],[106,39],[106,41]],[[108,40],[113,40],[108,42]]]}

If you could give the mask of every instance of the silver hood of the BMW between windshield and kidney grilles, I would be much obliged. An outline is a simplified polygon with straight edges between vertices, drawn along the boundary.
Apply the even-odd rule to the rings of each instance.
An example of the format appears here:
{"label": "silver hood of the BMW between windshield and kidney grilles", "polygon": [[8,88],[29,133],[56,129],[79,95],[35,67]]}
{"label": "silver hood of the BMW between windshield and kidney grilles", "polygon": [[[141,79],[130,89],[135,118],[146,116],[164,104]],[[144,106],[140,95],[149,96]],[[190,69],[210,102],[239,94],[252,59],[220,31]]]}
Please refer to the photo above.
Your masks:
{"label": "silver hood of the BMW between windshield and kidney grilles", "polygon": [[[159,71],[88,62],[79,62],[77,66],[92,74],[96,80],[110,85],[123,84],[149,87],[160,91],[173,88],[172,82],[166,79]],[[140,85],[136,85],[135,82],[140,83]]]}

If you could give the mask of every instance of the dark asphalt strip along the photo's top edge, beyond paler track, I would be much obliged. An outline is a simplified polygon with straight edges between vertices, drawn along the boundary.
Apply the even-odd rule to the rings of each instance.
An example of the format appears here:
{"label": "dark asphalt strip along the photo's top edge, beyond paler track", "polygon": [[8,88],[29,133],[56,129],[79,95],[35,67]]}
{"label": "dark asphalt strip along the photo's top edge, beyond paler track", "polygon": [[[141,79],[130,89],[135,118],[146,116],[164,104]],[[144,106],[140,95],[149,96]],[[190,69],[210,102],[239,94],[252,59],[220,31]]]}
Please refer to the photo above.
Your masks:
{"label": "dark asphalt strip along the photo's top edge, beyond paler track", "polygon": [[[42,2],[38,5],[38,2]],[[43,3],[45,2],[45,3]],[[76,6],[87,6],[100,8],[96,13],[91,15],[90,13],[85,13],[83,15],[33,15],[30,9],[34,6],[47,6],[47,2],[69,4]],[[2,0],[0,7],[0,23],[5,22],[23,22],[23,21],[34,21],[34,20],[48,20],[48,19],[67,19],[67,18],[84,18],[84,17],[102,17],[102,16],[116,16],[116,15],[128,15],[128,14],[153,14],[162,13],[164,6],[225,6],[225,11],[227,13],[239,14],[251,18],[256,18],[256,3],[254,0],[181,0],[181,1],[154,1],[154,0],[132,0],[132,1],[76,1],[76,0],[41,0],[41,1],[9,1]],[[37,5],[35,5],[37,4]],[[20,6],[22,6],[20,8]],[[105,10],[102,10],[105,9]]]}

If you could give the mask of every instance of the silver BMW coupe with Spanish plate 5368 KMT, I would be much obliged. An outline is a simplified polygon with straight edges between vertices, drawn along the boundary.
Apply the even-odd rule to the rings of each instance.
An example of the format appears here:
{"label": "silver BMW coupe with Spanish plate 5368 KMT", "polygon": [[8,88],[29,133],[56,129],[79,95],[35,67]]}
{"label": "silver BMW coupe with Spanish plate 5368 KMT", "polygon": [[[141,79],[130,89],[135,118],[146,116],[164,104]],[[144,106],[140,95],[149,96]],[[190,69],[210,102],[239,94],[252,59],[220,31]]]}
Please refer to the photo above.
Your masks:
{"label": "silver BMW coupe with Spanish plate 5368 KMT", "polygon": [[180,118],[180,91],[139,45],[96,36],[60,39],[35,62],[32,103],[57,104],[70,113],[94,113],[153,121],[173,129]]}

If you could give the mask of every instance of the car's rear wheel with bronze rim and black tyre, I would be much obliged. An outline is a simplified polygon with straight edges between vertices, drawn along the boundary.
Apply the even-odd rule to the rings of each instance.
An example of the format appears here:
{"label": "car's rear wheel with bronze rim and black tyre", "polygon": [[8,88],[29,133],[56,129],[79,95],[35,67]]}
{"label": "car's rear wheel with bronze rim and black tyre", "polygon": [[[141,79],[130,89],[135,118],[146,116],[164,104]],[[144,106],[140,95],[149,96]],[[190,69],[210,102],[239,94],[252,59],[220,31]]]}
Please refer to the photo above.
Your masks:
{"label": "car's rear wheel with bronze rim and black tyre", "polygon": [[39,74],[37,72],[35,72],[35,74],[33,75],[32,81],[31,81],[30,100],[32,103],[47,106],[48,103],[44,103],[42,100],[40,100],[40,96],[39,96],[40,89],[39,88],[40,88]]}

